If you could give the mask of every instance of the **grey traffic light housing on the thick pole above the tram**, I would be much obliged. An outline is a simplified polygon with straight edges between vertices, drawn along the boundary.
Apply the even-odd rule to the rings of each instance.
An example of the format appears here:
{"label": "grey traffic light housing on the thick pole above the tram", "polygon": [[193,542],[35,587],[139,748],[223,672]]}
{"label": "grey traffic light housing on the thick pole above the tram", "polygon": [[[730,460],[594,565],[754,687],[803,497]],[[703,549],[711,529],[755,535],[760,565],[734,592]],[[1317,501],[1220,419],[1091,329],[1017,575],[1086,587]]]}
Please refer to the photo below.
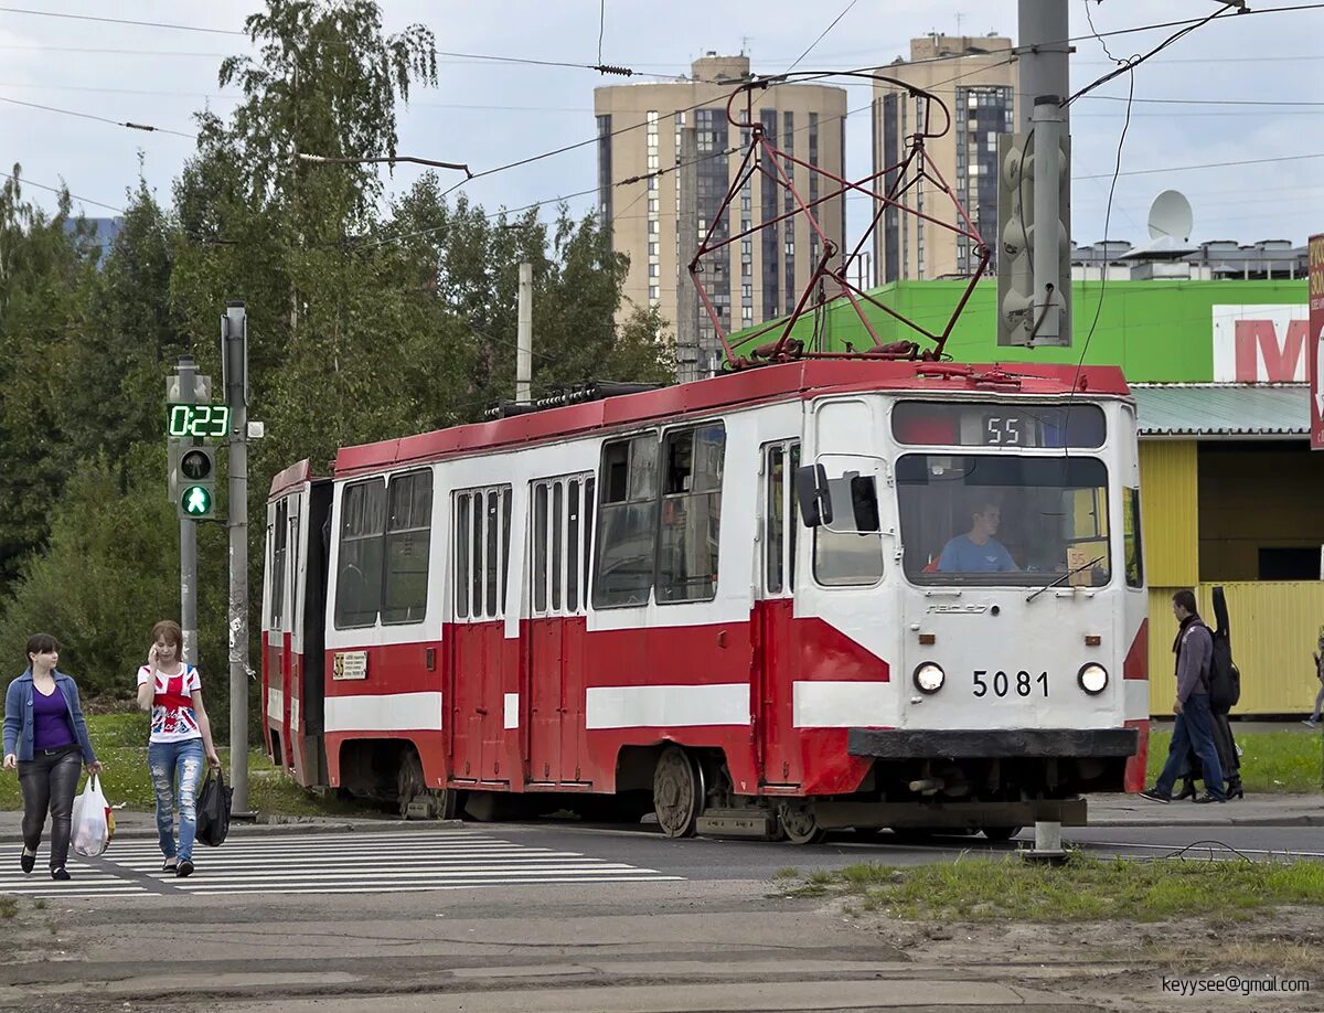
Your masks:
{"label": "grey traffic light housing on the thick pole above the tram", "polygon": [[[1071,285],[1071,249],[1063,222],[1071,216],[1070,139],[1058,154],[1058,283]],[[1063,311],[1059,334],[1046,338],[1035,332],[1034,289],[1034,136],[998,135],[997,176],[997,343],[1071,344],[1070,314]],[[1042,306],[1042,294],[1039,295]]]}

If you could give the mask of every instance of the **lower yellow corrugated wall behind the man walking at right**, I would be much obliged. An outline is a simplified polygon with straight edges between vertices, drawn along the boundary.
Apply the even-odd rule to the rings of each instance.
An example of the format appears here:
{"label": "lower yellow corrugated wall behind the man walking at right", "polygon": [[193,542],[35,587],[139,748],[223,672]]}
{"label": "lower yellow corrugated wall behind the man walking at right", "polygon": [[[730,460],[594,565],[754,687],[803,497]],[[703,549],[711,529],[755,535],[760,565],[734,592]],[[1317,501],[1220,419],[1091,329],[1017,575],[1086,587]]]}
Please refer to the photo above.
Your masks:
{"label": "lower yellow corrugated wall behind the man walking at right", "polygon": [[[1217,625],[1213,587],[1196,587],[1200,614],[1210,626]],[[1245,581],[1222,587],[1227,597],[1233,659],[1242,674],[1242,698],[1233,714],[1308,714],[1319,689],[1311,654],[1324,624],[1324,581]],[[1177,621],[1172,617],[1176,591],[1176,587],[1149,588],[1149,710],[1153,715],[1172,714],[1177,693],[1172,655],[1172,641],[1177,636]]]}

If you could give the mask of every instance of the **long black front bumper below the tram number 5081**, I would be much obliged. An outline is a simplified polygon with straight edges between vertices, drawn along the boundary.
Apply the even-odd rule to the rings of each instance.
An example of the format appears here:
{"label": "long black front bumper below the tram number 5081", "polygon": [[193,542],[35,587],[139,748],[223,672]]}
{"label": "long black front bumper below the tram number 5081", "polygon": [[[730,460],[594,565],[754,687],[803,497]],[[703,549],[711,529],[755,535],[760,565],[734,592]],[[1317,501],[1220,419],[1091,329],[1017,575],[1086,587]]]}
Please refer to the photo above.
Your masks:
{"label": "long black front bumper below the tram number 5081", "polygon": [[1135,756],[1136,728],[850,728],[846,752],[882,760]]}

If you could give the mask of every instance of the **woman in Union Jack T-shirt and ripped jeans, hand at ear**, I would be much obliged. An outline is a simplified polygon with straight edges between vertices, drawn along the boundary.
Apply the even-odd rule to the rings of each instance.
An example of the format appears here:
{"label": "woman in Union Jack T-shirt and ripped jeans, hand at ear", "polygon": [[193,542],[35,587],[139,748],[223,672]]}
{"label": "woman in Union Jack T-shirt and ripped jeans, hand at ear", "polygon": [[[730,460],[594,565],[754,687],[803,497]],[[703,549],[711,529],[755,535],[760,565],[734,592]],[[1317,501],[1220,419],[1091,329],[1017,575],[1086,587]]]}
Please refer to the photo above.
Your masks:
{"label": "woman in Union Jack T-shirt and ripped jeans, hand at ear", "polygon": [[[193,836],[197,832],[197,789],[203,755],[212,767],[221,760],[212,744],[212,724],[203,706],[203,682],[197,669],[180,654],[184,633],[177,622],[162,620],[152,626],[147,663],[138,670],[138,706],[152,714],[147,768],[156,792],[156,833],[166,862],[163,873],[183,878],[193,874]],[[179,804],[179,841],[173,810]]]}

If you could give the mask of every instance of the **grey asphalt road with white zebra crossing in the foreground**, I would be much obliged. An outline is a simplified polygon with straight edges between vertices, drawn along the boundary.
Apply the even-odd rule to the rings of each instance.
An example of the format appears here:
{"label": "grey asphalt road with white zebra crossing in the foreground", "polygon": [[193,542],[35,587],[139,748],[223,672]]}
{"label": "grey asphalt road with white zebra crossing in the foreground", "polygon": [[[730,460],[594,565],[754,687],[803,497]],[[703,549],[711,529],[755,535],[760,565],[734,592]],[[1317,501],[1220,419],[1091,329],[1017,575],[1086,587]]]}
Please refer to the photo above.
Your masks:
{"label": "grey asphalt road with white zebra crossing in the foreground", "polygon": [[[1100,854],[1168,854],[1210,838],[1253,858],[1324,850],[1309,826],[1066,836]],[[1042,952],[1033,938],[990,949],[898,935],[772,882],[788,866],[947,862],[1014,846],[841,834],[796,847],[674,841],[647,826],[466,824],[236,840],[201,853],[181,883],[160,875],[150,842],[117,842],[102,865],[75,873],[83,889],[101,877],[128,892],[26,895],[0,922],[0,1009],[1164,1008],[1157,977],[1132,961],[1082,963],[1078,948]]]}

